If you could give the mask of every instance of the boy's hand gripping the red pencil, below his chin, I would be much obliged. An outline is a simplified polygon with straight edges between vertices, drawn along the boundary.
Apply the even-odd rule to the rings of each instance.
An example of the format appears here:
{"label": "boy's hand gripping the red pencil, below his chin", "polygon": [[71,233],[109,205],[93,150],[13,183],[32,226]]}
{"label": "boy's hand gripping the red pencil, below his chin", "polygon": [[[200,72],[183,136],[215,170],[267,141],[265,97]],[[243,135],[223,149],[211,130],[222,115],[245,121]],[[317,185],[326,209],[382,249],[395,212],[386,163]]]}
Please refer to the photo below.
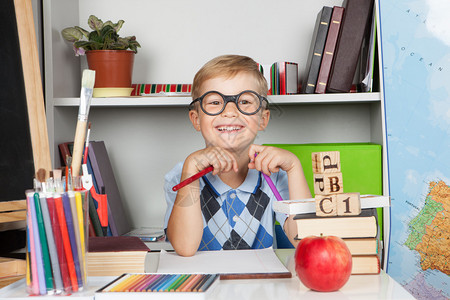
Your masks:
{"label": "boy's hand gripping the red pencil, below his chin", "polygon": [[[213,166],[213,175],[230,171],[238,171],[238,164],[235,157],[225,149],[220,147],[208,147],[198,150],[188,156],[186,162],[189,171],[200,172],[209,166]],[[185,164],[186,164],[185,162]]]}

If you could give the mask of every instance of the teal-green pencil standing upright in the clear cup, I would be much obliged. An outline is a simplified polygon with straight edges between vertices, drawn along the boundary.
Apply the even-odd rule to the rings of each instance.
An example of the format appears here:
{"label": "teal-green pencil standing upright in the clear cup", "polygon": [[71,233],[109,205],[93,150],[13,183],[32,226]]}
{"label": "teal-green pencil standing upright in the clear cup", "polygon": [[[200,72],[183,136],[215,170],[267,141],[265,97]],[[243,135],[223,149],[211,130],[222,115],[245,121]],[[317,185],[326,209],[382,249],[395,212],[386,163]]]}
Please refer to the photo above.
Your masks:
{"label": "teal-green pencil standing upright in the clear cup", "polygon": [[[47,287],[47,291],[53,290],[53,275],[52,275],[52,267],[50,262],[50,255],[48,250],[48,241],[47,236],[45,235],[44,228],[44,217],[42,215],[41,209],[41,200],[39,193],[34,193],[34,207],[36,209],[36,219],[39,230],[39,240],[41,243],[42,250],[42,259],[44,263],[44,276],[45,276],[45,286]],[[42,195],[44,197],[44,195]]]}

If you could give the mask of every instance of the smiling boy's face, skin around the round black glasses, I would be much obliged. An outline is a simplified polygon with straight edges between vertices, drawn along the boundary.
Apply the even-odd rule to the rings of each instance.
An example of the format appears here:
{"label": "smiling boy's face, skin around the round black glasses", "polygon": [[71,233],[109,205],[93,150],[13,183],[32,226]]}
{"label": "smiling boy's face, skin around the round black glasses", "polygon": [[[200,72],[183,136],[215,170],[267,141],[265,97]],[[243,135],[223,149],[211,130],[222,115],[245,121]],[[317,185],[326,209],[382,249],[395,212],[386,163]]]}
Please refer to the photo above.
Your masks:
{"label": "smiling boy's face, skin around the round black glasses", "polygon": [[[238,73],[231,78],[215,77],[206,80],[202,94],[218,91],[224,95],[236,95],[244,90],[258,92],[258,83],[249,73]],[[228,103],[217,116],[205,114],[200,107],[189,112],[189,118],[197,131],[201,131],[206,146],[217,146],[231,152],[246,151],[253,144],[258,131],[264,130],[269,122],[270,112],[261,109],[254,115],[242,114],[235,103]]]}

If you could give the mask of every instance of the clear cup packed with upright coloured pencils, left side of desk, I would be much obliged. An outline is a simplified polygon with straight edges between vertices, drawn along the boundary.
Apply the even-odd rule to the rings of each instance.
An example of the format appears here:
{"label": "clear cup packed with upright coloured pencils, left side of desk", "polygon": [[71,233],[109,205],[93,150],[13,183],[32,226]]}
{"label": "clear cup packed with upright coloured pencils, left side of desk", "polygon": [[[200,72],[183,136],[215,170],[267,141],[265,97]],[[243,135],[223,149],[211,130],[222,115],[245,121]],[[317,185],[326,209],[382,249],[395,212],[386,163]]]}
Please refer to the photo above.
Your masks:
{"label": "clear cup packed with upright coloured pencils, left side of desk", "polygon": [[70,295],[86,289],[89,191],[25,194],[27,293]]}

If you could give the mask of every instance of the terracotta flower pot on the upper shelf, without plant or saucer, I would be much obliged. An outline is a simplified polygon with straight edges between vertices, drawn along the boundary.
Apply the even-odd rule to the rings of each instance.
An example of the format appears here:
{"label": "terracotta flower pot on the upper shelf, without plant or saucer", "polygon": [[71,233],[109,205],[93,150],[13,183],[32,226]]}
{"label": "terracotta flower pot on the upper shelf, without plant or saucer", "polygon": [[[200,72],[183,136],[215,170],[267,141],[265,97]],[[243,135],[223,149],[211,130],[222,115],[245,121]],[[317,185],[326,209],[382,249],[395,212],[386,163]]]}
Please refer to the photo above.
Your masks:
{"label": "terracotta flower pot on the upper shelf, without plant or saucer", "polygon": [[134,51],[86,51],[89,69],[95,70],[95,88],[131,88]]}

